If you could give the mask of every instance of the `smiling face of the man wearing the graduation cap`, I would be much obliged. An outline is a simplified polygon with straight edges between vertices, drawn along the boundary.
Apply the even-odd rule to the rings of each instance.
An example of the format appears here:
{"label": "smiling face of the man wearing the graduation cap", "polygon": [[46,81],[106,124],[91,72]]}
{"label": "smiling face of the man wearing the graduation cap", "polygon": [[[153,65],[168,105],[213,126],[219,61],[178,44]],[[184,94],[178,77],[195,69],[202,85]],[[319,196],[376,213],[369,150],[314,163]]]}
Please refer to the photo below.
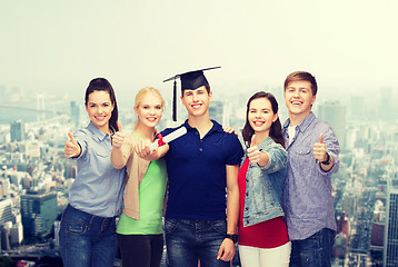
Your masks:
{"label": "smiling face of the man wearing the graduation cap", "polygon": [[188,116],[201,117],[208,113],[211,96],[212,92],[208,92],[205,86],[196,90],[183,90],[181,101],[186,106]]}

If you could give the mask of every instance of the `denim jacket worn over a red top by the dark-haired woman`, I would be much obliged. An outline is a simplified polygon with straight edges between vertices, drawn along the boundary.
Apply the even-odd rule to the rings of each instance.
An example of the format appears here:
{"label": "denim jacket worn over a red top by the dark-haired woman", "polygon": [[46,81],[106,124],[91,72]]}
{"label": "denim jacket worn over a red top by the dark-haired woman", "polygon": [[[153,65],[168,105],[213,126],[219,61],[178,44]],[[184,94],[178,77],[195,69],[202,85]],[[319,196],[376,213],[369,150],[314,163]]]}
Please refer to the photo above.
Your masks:
{"label": "denim jacket worn over a red top by the dark-haired woman", "polygon": [[[243,226],[256,225],[283,216],[282,191],[287,172],[285,148],[268,137],[258,149],[268,154],[268,164],[260,167],[249,164],[246,175]],[[247,151],[242,162],[247,159]]]}

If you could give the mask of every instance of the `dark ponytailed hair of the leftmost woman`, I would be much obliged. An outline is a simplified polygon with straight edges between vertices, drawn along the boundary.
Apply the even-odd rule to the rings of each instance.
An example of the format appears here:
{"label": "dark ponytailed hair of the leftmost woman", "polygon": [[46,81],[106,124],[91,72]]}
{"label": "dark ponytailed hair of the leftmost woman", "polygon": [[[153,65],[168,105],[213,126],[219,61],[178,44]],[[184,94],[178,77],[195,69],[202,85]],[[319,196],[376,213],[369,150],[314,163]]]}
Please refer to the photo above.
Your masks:
{"label": "dark ponytailed hair of the leftmost woman", "polygon": [[92,79],[89,83],[89,87],[86,89],[84,105],[87,105],[89,96],[93,91],[107,91],[109,93],[110,100],[113,105],[113,110],[109,119],[109,126],[118,131],[118,105],[116,102],[116,96],[112,86],[105,78]]}

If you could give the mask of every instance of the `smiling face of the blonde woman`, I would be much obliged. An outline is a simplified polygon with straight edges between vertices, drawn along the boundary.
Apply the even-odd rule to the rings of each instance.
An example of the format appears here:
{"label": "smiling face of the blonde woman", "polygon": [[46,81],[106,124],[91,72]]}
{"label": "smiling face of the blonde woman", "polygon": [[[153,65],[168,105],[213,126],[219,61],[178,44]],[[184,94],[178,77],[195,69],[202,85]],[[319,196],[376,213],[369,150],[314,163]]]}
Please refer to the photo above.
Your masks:
{"label": "smiling face of the blonde woman", "polygon": [[158,96],[148,92],[140,100],[139,105],[135,107],[135,112],[141,126],[153,128],[163,113],[162,100]]}

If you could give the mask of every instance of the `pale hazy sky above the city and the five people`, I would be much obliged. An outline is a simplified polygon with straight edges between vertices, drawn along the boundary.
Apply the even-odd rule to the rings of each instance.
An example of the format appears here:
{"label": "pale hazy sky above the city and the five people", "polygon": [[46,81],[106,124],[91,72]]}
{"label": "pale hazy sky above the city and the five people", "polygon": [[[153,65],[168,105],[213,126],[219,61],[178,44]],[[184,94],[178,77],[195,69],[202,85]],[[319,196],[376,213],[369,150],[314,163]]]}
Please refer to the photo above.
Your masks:
{"label": "pale hazy sky above the city and the five people", "polygon": [[[398,88],[396,0],[1,0],[0,86],[82,99],[105,77],[117,97],[190,70],[222,93],[316,76],[325,96]],[[217,91],[217,89],[219,91]],[[131,99],[132,101],[132,99]]]}

